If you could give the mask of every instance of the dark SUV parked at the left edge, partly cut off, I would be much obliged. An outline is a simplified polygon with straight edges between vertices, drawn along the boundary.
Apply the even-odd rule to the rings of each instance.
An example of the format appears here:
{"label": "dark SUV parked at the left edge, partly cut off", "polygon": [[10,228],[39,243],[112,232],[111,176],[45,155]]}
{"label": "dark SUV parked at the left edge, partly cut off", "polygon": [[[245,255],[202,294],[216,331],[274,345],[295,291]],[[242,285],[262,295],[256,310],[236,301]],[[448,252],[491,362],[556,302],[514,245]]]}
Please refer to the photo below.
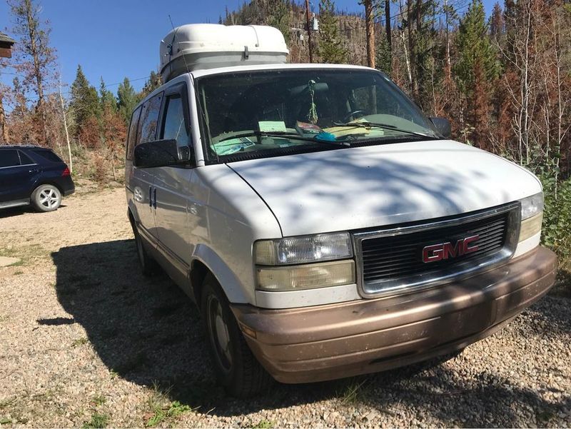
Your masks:
{"label": "dark SUV parked at the left edge, partly cut off", "polygon": [[74,191],[68,166],[50,149],[0,146],[0,208],[31,204],[54,211]]}

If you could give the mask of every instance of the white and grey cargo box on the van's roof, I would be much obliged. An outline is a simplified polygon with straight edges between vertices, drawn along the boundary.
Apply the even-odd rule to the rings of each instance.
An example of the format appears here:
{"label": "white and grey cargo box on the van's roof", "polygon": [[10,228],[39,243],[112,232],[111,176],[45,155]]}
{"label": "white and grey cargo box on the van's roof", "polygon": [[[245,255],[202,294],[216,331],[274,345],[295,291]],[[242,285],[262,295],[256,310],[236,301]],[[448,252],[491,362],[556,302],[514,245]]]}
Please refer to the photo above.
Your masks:
{"label": "white and grey cargo box on the van's roof", "polygon": [[163,82],[186,71],[224,66],[283,64],[283,34],[270,26],[186,24],[161,40]]}

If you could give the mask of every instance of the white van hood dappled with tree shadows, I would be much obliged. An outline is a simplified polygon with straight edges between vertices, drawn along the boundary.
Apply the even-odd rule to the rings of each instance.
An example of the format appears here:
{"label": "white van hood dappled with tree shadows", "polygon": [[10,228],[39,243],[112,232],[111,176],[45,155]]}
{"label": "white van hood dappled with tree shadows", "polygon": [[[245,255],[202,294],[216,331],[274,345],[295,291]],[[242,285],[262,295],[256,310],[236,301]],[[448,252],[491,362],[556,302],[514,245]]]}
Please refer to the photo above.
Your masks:
{"label": "white van hood dappled with tree shadows", "polygon": [[541,191],[515,163],[455,141],[365,146],[228,164],[283,236],[428,220]]}

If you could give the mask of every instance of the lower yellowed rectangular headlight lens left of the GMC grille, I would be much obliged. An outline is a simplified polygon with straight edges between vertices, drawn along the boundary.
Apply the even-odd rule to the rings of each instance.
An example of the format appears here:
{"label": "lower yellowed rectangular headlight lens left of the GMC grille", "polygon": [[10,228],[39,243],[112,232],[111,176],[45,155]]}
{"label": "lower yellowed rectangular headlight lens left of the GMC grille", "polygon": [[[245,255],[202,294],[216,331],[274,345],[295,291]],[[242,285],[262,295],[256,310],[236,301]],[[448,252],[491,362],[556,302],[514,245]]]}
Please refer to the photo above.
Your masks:
{"label": "lower yellowed rectangular headlight lens left of the GMC grille", "polygon": [[335,261],[298,266],[258,267],[258,289],[297,291],[355,283],[355,263]]}

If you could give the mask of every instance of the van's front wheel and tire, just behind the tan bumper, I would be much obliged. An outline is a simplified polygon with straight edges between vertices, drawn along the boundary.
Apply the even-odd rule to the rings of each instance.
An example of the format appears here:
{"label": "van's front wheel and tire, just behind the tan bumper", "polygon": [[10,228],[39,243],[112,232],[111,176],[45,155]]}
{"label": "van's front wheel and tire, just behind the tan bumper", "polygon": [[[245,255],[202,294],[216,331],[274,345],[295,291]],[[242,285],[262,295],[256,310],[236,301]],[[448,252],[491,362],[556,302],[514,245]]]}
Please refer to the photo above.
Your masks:
{"label": "van's front wheel and tire, just behind the tan bumper", "polygon": [[211,274],[203,281],[201,313],[214,373],[226,393],[248,398],[268,388],[272,378],[252,354],[226,296]]}

